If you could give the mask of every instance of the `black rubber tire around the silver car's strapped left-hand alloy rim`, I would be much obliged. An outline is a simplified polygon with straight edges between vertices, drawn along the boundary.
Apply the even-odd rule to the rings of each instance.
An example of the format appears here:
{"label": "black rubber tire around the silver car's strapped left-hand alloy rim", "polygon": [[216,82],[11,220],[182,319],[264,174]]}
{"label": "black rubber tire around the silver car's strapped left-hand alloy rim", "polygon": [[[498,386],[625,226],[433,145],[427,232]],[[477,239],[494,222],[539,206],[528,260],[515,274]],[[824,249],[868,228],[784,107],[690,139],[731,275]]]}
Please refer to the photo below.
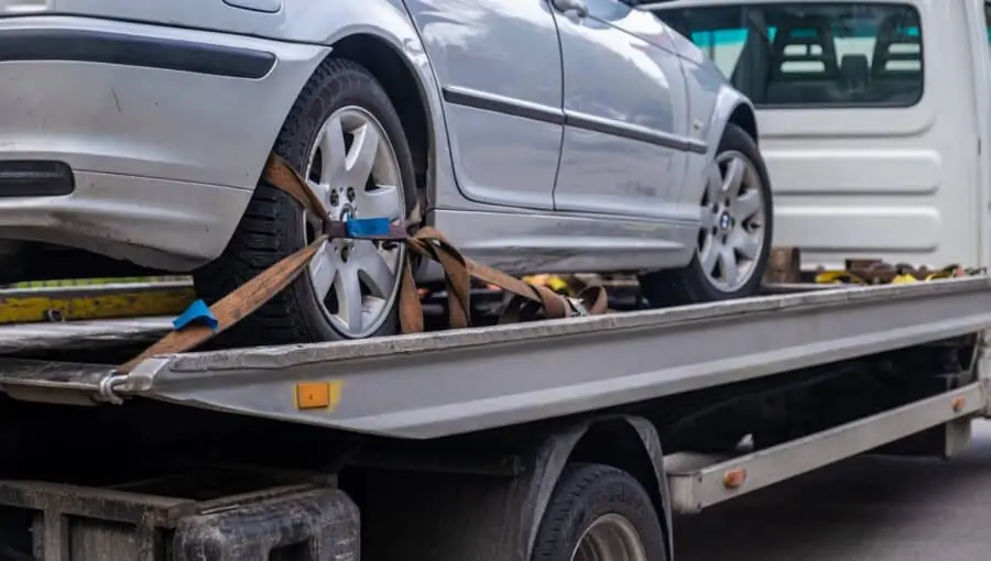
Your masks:
{"label": "black rubber tire around the silver car's strapped left-hand alloy rim", "polygon": [[[391,145],[394,158],[390,161],[394,160],[395,175],[402,184],[396,190],[403,196],[402,205],[396,205],[402,209],[396,212],[401,211],[401,218],[407,218],[415,201],[415,176],[410,145],[385,90],[371,73],[356,63],[330,58],[320,65],[290,111],[275,141],[274,152],[300,172],[301,176],[305,176],[312,155],[317,157],[315,143],[324,134],[324,123],[339,111],[352,109],[355,116],[371,116],[373,119],[369,119],[369,122],[378,125],[378,138]],[[351,136],[352,145],[358,142],[355,139],[357,136]],[[350,150],[344,147],[345,152]],[[377,148],[375,154],[378,153]],[[318,166],[314,164],[314,167]],[[344,197],[345,190],[341,189],[340,193]],[[350,195],[349,191],[348,196]],[[358,216],[360,218],[360,212]],[[261,180],[227,249],[220,257],[194,273],[199,296],[207,302],[214,302],[304,248],[314,237],[313,228],[307,228],[307,223],[302,206]],[[395,251],[402,252],[395,270],[399,273],[405,253],[402,248]],[[340,323],[336,326],[323,301],[316,295],[309,271],[304,271],[281,294],[220,336],[219,344],[291,344],[359,338],[340,329]],[[373,332],[361,337],[392,334],[398,331],[398,295],[394,293],[391,300],[383,298],[383,301],[386,302],[383,308],[388,308],[377,320],[381,320],[381,324]],[[370,326],[372,327],[374,326]]]}

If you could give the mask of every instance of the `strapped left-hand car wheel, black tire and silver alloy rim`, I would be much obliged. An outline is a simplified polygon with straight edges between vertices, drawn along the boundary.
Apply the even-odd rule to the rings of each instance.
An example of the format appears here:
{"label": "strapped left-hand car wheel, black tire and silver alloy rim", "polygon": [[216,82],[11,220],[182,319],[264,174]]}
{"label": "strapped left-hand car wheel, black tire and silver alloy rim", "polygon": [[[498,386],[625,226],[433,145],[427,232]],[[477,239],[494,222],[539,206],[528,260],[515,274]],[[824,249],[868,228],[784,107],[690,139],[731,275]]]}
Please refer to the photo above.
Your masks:
{"label": "strapped left-hand car wheel, black tire and silver alloy rim", "polygon": [[[303,88],[274,152],[307,179],[334,219],[388,216],[401,223],[415,201],[410,146],[389,96],[362,66],[325,62]],[[319,222],[262,180],[224,254],[194,274],[216,301],[304,248]],[[398,330],[403,244],[335,240],[308,270],[221,336],[222,344],[362,339]],[[226,337],[225,337],[226,336]]]}

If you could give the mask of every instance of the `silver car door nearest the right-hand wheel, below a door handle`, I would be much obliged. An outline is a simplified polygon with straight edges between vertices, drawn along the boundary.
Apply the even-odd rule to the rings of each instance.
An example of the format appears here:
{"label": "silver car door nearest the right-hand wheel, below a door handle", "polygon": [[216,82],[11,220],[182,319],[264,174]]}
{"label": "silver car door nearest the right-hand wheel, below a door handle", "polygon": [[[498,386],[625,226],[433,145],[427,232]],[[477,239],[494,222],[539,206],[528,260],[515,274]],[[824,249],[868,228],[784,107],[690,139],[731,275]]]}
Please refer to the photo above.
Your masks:
{"label": "silver car door nearest the right-hand wheel, below a door handle", "polygon": [[705,145],[687,138],[685,80],[667,26],[620,0],[551,2],[566,123],[555,208],[676,217],[687,152]]}

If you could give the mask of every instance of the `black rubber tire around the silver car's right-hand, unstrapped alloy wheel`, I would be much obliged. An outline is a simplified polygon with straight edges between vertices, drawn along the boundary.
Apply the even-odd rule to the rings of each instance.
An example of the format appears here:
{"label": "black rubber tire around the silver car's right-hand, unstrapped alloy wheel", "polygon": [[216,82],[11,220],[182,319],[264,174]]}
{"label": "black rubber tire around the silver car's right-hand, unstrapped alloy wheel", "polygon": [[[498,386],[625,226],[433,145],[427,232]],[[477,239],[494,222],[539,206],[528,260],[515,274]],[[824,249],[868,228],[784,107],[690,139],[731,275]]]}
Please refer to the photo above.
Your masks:
{"label": "black rubber tire around the silver car's right-hand, unstrapped alloy wheel", "polygon": [[[739,283],[720,286],[721,280],[714,279],[712,275],[715,275],[715,273],[710,274],[710,271],[706,271],[703,265],[703,260],[700,257],[705,251],[704,248],[697,246],[691,263],[689,263],[687,267],[676,271],[649,273],[640,277],[641,292],[652,307],[680,306],[686,304],[745,298],[748,296],[753,296],[760,289],[761,278],[764,276],[764,271],[767,267],[767,257],[770,256],[771,243],[774,238],[774,207],[772,204],[771,180],[767,176],[767,169],[756,142],[747,133],[747,131],[733,123],[729,123],[726,127],[722,140],[719,142],[719,147],[716,152],[716,162],[719,162],[720,158],[728,157],[740,157],[743,158],[743,161],[749,162],[751,167],[748,168],[749,172],[745,177],[758,183],[753,189],[755,193],[760,194],[760,205],[758,205],[758,207],[760,208],[761,216],[759,218],[762,222],[760,228],[763,230],[763,238],[761,238],[760,243],[753,244],[753,246],[759,248],[759,253],[753,260],[749,260],[750,268],[747,270],[749,271],[749,274],[745,277],[745,282],[743,282],[744,279],[740,279]],[[708,198],[709,196],[710,190],[707,187],[704,197]],[[699,206],[703,209],[703,216],[705,217],[705,208],[711,207],[704,206],[703,202],[706,201],[700,201]],[[731,212],[729,208],[727,208],[727,212]],[[720,216],[721,213],[722,212],[720,211]],[[715,219],[715,209],[712,216]],[[730,232],[729,235],[732,235],[736,232],[737,220],[739,220],[741,228],[748,228],[748,224],[753,226],[755,223],[752,218],[753,217],[749,219],[749,222],[744,223],[744,220],[731,217],[730,219],[733,220],[733,222],[730,228],[733,228],[733,230],[720,230],[720,232],[728,231]],[[699,245],[705,245],[705,242],[703,241],[704,237],[708,240],[719,238],[716,235],[716,230],[719,230],[719,228],[723,226],[725,224],[722,223],[717,223],[712,226],[714,230],[707,231],[707,229],[704,229],[700,224]],[[709,237],[709,234],[712,235]],[[727,234],[721,233],[720,235],[725,238]],[[733,254],[736,255],[736,251]],[[736,260],[736,257],[733,258]],[[722,275],[720,274],[720,276]]]}

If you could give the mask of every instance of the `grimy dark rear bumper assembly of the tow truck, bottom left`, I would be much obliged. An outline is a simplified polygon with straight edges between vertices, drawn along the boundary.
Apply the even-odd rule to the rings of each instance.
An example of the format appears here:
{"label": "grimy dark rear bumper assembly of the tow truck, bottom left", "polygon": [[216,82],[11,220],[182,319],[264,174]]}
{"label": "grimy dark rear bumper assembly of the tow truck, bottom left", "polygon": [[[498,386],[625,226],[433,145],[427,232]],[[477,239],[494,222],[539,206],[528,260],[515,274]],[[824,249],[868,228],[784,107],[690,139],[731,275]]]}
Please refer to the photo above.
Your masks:
{"label": "grimy dark rear bumper assembly of the tow truck, bottom left", "polygon": [[[243,475],[225,475],[242,479]],[[0,482],[2,559],[352,561],[359,513],[333,481],[197,501],[170,479],[106,487]],[[196,493],[202,493],[202,488]]]}

